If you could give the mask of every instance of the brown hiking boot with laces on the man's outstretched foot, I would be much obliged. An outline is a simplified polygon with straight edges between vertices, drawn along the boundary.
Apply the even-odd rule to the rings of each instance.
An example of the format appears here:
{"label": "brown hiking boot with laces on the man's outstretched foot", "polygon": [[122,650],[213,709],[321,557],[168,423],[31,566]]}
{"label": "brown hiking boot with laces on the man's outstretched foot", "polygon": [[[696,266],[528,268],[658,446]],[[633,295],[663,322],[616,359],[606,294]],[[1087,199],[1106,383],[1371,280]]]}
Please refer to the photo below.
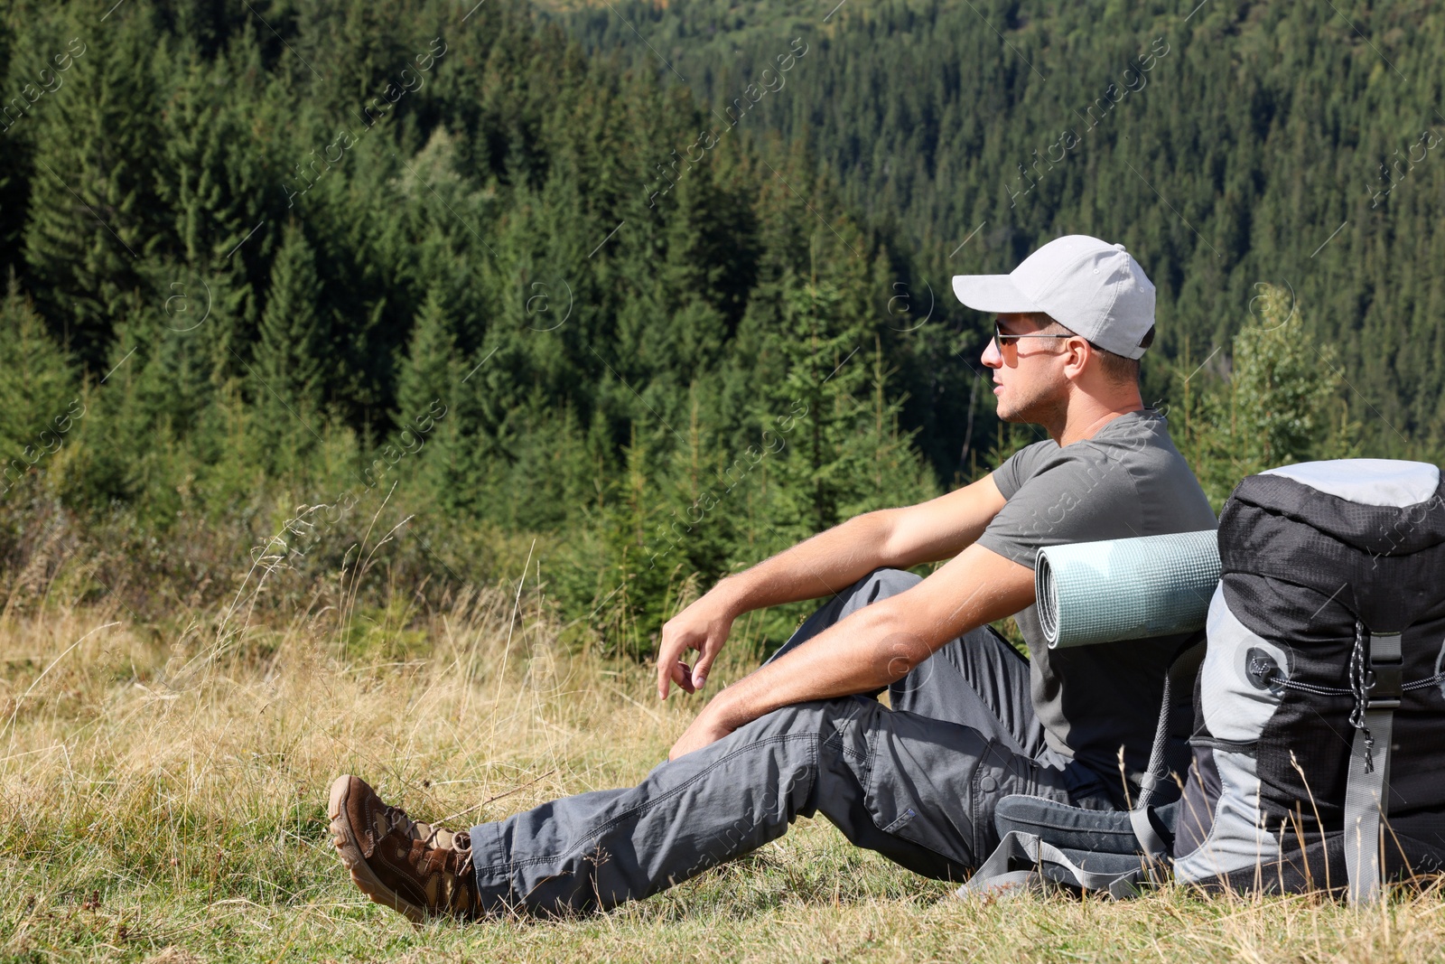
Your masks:
{"label": "brown hiking boot with laces on the man's outstretched foot", "polygon": [[471,835],[422,824],[387,806],[366,780],[331,785],[331,835],[363,893],[415,924],[429,916],[478,916]]}

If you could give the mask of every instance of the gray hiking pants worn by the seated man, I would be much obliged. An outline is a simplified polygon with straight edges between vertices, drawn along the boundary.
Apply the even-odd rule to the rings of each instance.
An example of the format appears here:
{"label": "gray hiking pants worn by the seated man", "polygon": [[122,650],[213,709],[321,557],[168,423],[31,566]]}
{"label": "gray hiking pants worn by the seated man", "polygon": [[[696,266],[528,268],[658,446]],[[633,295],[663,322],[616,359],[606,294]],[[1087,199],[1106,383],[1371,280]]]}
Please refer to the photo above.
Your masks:
{"label": "gray hiking pants worn by the seated man", "polygon": [[[871,572],[772,659],[918,581]],[[889,701],[892,710],[861,695],[783,707],[659,765],[634,788],[473,827],[483,900],[532,913],[611,908],[756,850],[819,811],[860,847],[964,880],[997,845],[993,812],[1007,793],[1113,806],[1092,770],[1045,744],[1029,663],[987,626],[889,687]]]}

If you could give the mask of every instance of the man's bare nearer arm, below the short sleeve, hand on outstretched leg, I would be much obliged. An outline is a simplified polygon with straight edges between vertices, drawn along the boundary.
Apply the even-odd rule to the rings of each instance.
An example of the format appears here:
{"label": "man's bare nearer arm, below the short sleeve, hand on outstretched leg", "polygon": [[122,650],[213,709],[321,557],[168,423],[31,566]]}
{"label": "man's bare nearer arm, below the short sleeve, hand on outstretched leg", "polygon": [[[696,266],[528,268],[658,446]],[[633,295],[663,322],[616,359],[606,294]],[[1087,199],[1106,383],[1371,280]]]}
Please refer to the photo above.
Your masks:
{"label": "man's bare nearer arm, below the short sleeve, hand on outstretched leg", "polygon": [[779,707],[902,679],[948,640],[1026,608],[1033,569],[970,546],[899,595],[863,607],[727,687],[672,747],[678,759]]}

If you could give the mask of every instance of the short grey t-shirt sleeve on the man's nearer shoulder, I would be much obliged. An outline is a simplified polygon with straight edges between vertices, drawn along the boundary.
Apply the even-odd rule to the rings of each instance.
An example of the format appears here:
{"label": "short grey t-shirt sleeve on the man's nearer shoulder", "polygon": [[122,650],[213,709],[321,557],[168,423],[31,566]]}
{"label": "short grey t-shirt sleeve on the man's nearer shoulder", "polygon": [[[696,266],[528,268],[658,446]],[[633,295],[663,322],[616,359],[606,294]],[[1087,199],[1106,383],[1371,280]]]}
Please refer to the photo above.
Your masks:
{"label": "short grey t-shirt sleeve on the man's nearer shoulder", "polygon": [[1133,478],[1114,460],[1055,449],[1012,494],[998,491],[1007,502],[978,545],[1030,569],[1040,548],[1140,535]]}

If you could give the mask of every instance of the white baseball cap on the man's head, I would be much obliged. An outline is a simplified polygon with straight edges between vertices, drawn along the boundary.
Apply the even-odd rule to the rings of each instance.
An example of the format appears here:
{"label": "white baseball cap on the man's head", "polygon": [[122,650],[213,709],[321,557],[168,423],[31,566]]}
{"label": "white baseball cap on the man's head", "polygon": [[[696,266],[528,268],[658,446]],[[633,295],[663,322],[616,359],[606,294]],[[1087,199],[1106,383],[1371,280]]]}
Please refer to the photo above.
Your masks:
{"label": "white baseball cap on the man's head", "polygon": [[1042,311],[1074,334],[1126,358],[1144,354],[1155,286],[1123,244],[1065,234],[1009,275],[954,275],[958,301],[994,314]]}

